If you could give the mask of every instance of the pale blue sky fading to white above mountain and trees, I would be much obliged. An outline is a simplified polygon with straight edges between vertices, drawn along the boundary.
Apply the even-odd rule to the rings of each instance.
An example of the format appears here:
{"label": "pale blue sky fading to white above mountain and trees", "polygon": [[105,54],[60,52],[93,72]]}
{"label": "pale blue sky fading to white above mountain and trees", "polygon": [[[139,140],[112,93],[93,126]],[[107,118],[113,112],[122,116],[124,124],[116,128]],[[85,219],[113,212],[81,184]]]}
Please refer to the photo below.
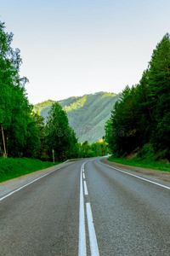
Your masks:
{"label": "pale blue sky fading to white above mountain and trees", "polygon": [[138,84],[169,14],[169,0],[0,0],[31,104]]}

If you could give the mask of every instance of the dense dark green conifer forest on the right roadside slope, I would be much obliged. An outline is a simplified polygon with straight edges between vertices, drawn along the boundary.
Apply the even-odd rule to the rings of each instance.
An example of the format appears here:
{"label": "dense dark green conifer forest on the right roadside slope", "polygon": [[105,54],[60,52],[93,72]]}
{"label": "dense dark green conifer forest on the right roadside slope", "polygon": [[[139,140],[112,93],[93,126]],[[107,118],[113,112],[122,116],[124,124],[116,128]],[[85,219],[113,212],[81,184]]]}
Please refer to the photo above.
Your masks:
{"label": "dense dark green conifer forest on the right roadside slope", "polygon": [[127,86],[105,125],[105,139],[116,157],[132,151],[170,160],[170,36],[167,33],[139,81]]}

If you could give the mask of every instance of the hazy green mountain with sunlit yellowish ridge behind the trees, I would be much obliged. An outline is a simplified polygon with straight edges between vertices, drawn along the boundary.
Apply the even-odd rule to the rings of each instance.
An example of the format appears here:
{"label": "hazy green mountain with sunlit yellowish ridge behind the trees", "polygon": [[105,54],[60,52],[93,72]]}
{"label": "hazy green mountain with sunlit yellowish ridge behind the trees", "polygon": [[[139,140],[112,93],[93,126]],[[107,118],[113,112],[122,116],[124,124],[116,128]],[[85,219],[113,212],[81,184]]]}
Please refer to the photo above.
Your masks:
{"label": "hazy green mountain with sunlit yellowish ridge behind the trees", "polygon": [[[111,110],[119,98],[114,93],[96,92],[84,96],[73,96],[63,101],[59,101],[60,106],[66,111],[69,123],[83,143],[94,143],[105,135],[105,121],[110,119]],[[34,105],[33,111],[40,112],[45,121],[48,111],[54,101]]]}

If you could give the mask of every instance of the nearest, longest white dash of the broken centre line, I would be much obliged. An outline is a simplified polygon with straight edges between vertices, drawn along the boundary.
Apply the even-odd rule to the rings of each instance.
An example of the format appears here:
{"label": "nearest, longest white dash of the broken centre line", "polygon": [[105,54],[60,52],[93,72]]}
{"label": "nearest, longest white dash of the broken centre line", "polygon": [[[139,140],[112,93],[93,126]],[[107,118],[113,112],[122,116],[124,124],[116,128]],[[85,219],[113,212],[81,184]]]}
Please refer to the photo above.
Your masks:
{"label": "nearest, longest white dash of the broken centre line", "polygon": [[92,216],[92,210],[89,202],[86,203],[86,212],[87,212],[87,218],[88,218],[88,233],[89,233],[89,239],[90,239],[91,255],[98,256],[99,248],[98,248],[98,242],[97,242],[97,238],[94,230],[94,220]]}

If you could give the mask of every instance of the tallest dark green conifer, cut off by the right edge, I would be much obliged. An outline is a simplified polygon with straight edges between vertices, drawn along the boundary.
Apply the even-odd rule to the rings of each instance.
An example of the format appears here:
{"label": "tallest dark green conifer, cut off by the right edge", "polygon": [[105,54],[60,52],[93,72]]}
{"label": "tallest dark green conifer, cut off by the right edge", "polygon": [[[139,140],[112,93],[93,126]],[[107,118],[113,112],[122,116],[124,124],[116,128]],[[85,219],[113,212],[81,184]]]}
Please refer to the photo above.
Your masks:
{"label": "tallest dark green conifer, cut off by the right edge", "polygon": [[[167,145],[167,118],[170,102],[170,36],[167,33],[156,45],[149,65],[150,105],[152,110],[151,142],[156,148]],[[162,123],[163,120],[163,123]]]}

